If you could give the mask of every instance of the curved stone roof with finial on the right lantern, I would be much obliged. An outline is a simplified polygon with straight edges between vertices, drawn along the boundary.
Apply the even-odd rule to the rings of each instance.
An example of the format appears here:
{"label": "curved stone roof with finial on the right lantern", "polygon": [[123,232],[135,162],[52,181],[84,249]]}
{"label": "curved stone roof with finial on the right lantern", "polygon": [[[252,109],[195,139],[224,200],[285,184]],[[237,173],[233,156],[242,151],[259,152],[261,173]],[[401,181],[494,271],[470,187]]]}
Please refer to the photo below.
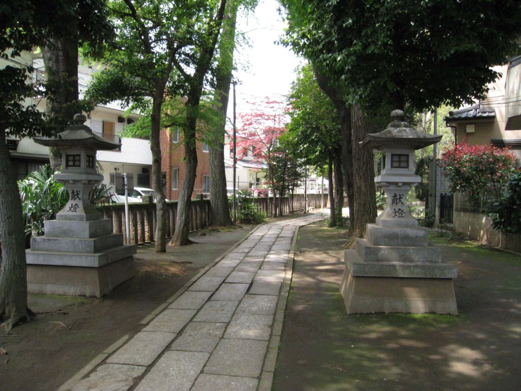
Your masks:
{"label": "curved stone roof with finial on the right lantern", "polygon": [[441,140],[442,135],[430,135],[412,128],[405,121],[405,113],[401,110],[393,110],[391,119],[392,121],[386,129],[378,133],[369,133],[366,139],[360,142],[360,145],[372,149],[401,146],[417,150]]}

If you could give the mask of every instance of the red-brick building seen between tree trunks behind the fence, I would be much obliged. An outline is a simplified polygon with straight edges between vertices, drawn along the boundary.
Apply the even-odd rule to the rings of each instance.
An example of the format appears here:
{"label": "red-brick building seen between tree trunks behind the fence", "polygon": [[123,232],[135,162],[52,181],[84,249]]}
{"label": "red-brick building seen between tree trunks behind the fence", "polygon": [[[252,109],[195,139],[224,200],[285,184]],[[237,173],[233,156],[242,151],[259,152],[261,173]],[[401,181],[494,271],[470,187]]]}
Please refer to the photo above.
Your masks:
{"label": "red-brick building seen between tree trunks behind the fence", "polygon": [[[184,180],[184,144],[182,132],[177,128],[162,129],[159,137],[161,145],[161,170],[165,179],[165,197],[169,200],[178,200],[181,185]],[[210,193],[210,161],[208,145],[196,141],[197,146],[197,173],[192,198],[196,194]]]}

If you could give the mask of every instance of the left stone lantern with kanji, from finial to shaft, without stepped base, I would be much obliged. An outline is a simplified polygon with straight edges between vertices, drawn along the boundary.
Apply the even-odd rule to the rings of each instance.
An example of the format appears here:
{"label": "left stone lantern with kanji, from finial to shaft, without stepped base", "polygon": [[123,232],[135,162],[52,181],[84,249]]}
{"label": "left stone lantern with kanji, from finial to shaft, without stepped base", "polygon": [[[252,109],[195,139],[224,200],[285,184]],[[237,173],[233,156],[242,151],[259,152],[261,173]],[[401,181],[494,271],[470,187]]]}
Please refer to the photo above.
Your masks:
{"label": "left stone lantern with kanji, from finial to shaft, without stepped base", "polygon": [[55,179],[69,192],[69,202],[56,214],[56,220],[93,221],[101,217],[89,201],[92,188],[103,181],[96,170],[96,151],[114,150],[120,144],[96,136],[91,128],[83,125],[83,114],[74,116],[75,125],[53,138],[35,138],[38,144],[61,150],[61,172]]}

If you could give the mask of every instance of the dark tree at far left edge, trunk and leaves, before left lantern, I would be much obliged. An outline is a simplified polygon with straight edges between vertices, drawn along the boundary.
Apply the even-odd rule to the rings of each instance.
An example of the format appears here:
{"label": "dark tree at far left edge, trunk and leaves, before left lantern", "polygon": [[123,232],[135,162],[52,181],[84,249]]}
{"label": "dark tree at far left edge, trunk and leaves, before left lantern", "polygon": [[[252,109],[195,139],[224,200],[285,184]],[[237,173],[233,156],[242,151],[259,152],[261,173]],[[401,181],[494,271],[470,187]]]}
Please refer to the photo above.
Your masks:
{"label": "dark tree at far left edge, trunk and leaves, before left lantern", "polygon": [[23,57],[22,52],[66,36],[67,17],[76,5],[68,0],[19,0],[0,7],[0,321],[6,319],[6,329],[29,320],[30,311],[20,196],[5,139],[49,135],[44,116],[28,101],[45,95],[44,86],[32,83],[32,56]]}

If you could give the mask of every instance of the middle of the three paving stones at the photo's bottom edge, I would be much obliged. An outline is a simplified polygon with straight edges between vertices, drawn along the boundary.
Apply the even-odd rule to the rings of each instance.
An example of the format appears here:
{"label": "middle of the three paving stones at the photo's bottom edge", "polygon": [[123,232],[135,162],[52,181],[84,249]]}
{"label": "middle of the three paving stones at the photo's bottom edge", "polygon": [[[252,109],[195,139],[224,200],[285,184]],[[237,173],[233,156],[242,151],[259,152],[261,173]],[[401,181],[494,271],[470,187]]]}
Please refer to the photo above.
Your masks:
{"label": "middle of the three paving stones at the photo's bottom edge", "polygon": [[204,352],[169,350],[135,391],[189,391],[208,357]]}

